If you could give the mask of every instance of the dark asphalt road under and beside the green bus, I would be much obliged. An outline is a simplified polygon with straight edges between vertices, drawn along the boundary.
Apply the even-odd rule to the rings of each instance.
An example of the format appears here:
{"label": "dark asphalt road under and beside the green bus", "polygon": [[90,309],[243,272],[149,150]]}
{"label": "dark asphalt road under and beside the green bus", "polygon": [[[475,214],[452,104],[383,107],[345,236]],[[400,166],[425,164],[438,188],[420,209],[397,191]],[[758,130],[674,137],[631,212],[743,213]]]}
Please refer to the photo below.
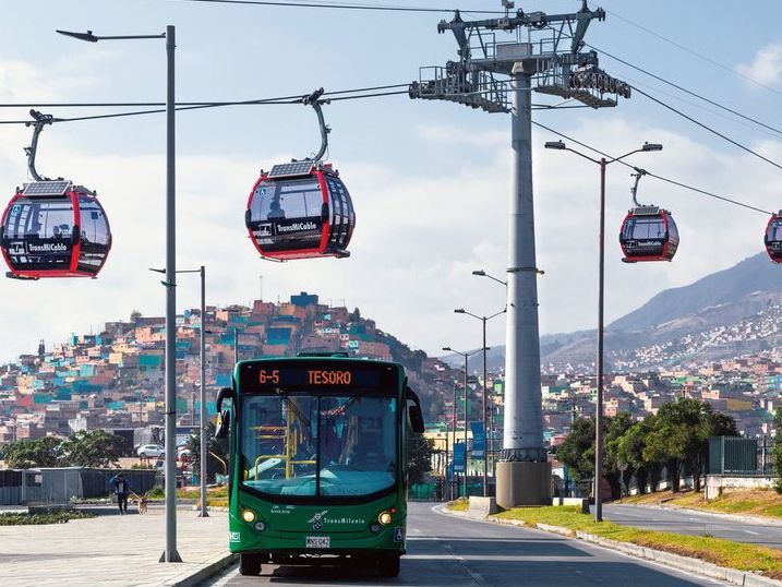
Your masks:
{"label": "dark asphalt road under and beside the green bus", "polygon": [[264,565],[260,577],[236,567],[210,584],[225,585],[623,585],[683,587],[723,583],[674,572],[540,530],[471,522],[411,504],[408,554],[396,579],[346,568]]}

